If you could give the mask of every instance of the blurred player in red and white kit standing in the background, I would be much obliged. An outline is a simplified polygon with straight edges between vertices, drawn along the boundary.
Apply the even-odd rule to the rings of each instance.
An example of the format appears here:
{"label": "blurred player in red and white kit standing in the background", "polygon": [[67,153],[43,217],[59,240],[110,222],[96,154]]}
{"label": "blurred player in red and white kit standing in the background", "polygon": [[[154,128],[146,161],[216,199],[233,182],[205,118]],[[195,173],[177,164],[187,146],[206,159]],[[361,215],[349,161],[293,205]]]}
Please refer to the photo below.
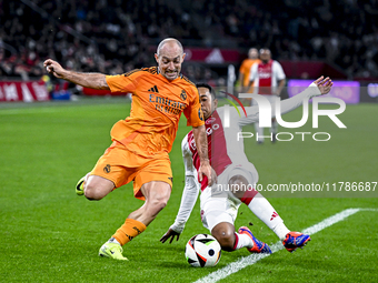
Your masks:
{"label": "blurred player in red and white kit standing in the background", "polygon": [[[255,85],[253,93],[265,95],[273,108],[276,95],[280,95],[286,83],[286,75],[279,62],[271,59],[269,49],[260,49],[260,63],[251,67],[249,75],[249,85]],[[257,105],[252,99],[252,104]],[[270,140],[276,142],[278,123],[275,118],[271,119]],[[258,135],[258,143],[263,142],[263,128],[255,123],[256,134]]]}

